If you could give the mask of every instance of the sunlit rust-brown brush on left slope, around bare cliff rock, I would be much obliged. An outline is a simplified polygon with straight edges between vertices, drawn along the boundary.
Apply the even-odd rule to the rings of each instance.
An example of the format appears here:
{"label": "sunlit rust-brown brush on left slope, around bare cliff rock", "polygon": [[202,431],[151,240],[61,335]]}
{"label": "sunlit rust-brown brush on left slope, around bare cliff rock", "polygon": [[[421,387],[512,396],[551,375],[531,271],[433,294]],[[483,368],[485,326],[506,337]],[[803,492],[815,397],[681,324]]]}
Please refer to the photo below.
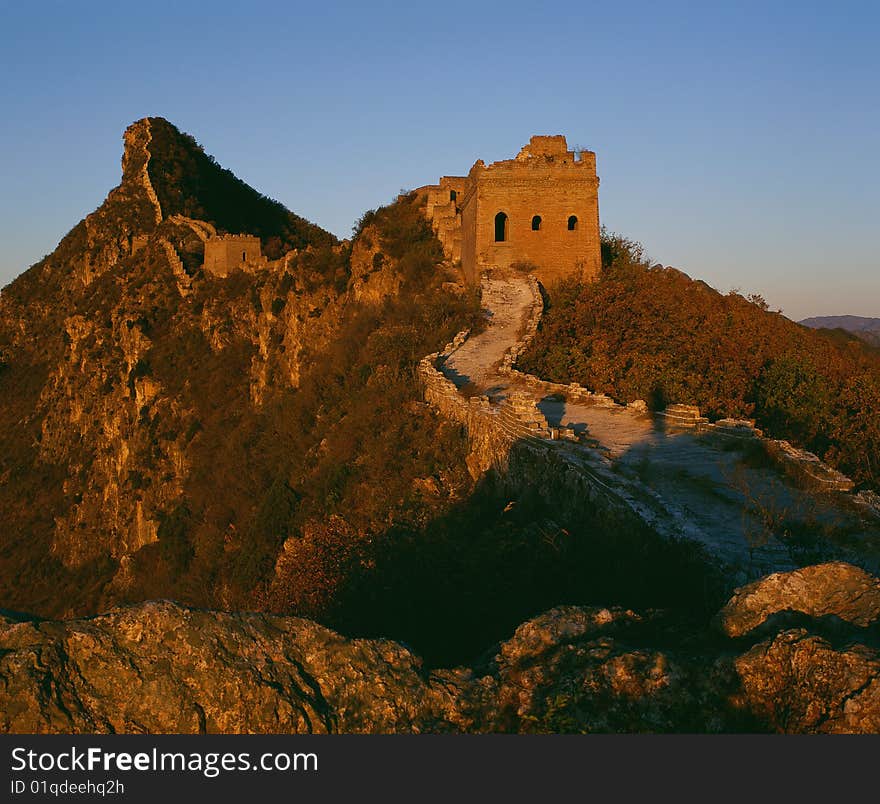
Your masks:
{"label": "sunlit rust-brown brush on left slope, around bare cliff rock", "polygon": [[[161,233],[177,241],[168,226]],[[57,300],[61,320],[79,316],[92,327],[77,346],[79,369],[60,371],[66,385],[46,394],[47,378],[69,359],[63,330],[35,333],[41,343],[57,341],[46,362],[16,348],[0,370],[0,420],[8,424],[0,507],[10,528],[0,544],[2,605],[41,614],[155,597],[252,605],[288,536],[337,513],[367,530],[427,520],[450,495],[470,488],[464,434],[421,401],[415,369],[424,354],[475,323],[477,300],[440,290],[442,250],[412,198],[372,213],[364,236],[380,241],[387,269],[403,276],[400,292],[382,306],[347,299],[350,252],[329,245],[300,253],[290,273],[215,279],[198,272],[183,298],[164,251],[151,246]],[[324,309],[315,307],[307,319],[315,332],[294,332],[291,342],[284,311],[300,298]],[[256,405],[250,368],[264,306],[274,323],[265,397]],[[120,326],[149,339],[130,370]],[[328,327],[336,327],[329,340],[322,334]],[[278,367],[288,349],[302,349],[298,385]],[[132,395],[143,380],[156,383],[159,395],[132,420]],[[44,443],[41,455],[57,391],[81,401],[82,415],[69,425],[56,419],[53,451],[47,455]],[[66,415],[63,399],[59,410]],[[119,478],[124,498],[147,499],[173,482],[169,449],[182,450],[188,465],[183,495],[161,512],[158,542],[134,554],[122,587],[111,584],[119,567],[108,555],[90,563],[83,583],[52,551],[55,520],[69,518],[74,505],[85,552],[106,542],[110,509],[91,488],[89,467],[118,449],[118,438],[106,434],[108,410],[130,456]]]}

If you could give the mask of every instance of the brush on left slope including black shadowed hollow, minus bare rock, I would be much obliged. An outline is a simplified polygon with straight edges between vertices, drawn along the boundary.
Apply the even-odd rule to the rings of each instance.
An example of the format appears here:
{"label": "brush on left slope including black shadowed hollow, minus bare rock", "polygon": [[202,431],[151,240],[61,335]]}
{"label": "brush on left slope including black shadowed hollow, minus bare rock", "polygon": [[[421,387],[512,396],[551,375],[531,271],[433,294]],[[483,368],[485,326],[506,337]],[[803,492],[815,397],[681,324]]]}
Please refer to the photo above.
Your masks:
{"label": "brush on left slope including black shadowed hollow, minus bare rock", "polygon": [[[160,234],[179,241],[176,231]],[[708,616],[719,585],[692,546],[662,543],[638,523],[603,521],[586,503],[563,513],[552,500],[511,494],[491,478],[474,486],[466,433],[423,402],[416,364],[479,325],[477,300],[442,288],[442,251],[414,196],[365,215],[357,237],[378,248],[377,271],[401,280],[383,304],[357,305],[344,291],[348,248],[301,252],[292,273],[216,279],[196,271],[181,297],[164,252],[148,247],[59,302],[65,317],[93,327],[77,347],[80,368],[61,373],[72,386],[39,401],[47,376],[68,360],[63,335],[48,363],[35,358],[29,367],[20,348],[4,358],[8,452],[0,471],[9,474],[0,506],[10,530],[0,544],[2,605],[88,614],[165,597],[268,609],[404,639],[441,664],[472,659],[560,603],[662,605]],[[293,386],[278,369],[293,348],[284,315],[319,302],[326,307],[308,319],[315,331],[303,333]],[[269,308],[270,373],[255,405],[254,322]],[[120,327],[150,342],[130,369]],[[327,327],[332,336],[317,337]],[[50,333],[37,339],[48,342]],[[133,389],[145,381],[160,393],[127,420]],[[85,402],[79,424],[56,418],[45,427],[46,403],[51,409],[68,388]],[[63,399],[60,411],[67,415]],[[52,552],[54,525],[78,506],[79,543],[106,536],[108,512],[88,467],[118,449],[103,432],[107,411],[121,413],[113,426],[124,428],[130,456],[120,496],[166,500],[152,512],[158,541],[137,550],[124,571],[94,551],[72,569]],[[40,457],[41,439],[51,460]],[[173,485],[169,445],[188,467],[182,493],[151,498]]]}

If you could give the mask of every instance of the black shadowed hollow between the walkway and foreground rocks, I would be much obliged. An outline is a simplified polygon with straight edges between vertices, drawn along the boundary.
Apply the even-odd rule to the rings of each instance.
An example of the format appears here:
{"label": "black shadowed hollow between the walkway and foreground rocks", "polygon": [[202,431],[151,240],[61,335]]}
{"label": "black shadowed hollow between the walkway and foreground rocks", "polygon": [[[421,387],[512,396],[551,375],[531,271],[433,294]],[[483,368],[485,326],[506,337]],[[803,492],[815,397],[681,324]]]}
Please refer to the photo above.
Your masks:
{"label": "black shadowed hollow between the walkway and foreground rocks", "polygon": [[472,664],[554,606],[663,608],[705,622],[730,591],[693,543],[588,501],[511,492],[492,474],[423,529],[389,530],[372,562],[348,578],[330,624],[402,641],[439,667]]}

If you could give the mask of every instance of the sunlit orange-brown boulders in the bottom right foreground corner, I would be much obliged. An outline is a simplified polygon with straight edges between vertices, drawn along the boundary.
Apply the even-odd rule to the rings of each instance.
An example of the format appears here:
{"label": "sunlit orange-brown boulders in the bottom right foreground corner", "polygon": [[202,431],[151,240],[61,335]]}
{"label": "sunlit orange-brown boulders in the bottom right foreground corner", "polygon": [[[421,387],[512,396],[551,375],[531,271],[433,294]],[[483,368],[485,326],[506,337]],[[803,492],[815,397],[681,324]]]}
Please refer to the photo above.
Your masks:
{"label": "sunlit orange-brown boulders in the bottom right foreground corner", "polygon": [[880,731],[880,579],[840,562],[774,573],[738,589],[717,623],[766,637],[735,658],[735,698],[770,728]]}

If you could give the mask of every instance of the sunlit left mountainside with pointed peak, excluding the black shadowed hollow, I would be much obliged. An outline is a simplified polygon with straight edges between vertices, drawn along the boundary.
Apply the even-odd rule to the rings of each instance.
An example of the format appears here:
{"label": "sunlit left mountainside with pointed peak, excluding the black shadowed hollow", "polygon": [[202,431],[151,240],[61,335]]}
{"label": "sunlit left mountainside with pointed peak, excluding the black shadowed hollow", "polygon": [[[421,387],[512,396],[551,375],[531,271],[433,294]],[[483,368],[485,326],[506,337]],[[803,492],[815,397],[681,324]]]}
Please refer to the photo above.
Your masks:
{"label": "sunlit left mountainside with pointed peak, excluding the black shadowed hollow", "polygon": [[[357,528],[455,496],[461,439],[412,409],[407,372],[474,307],[437,294],[418,212],[374,216],[353,257],[169,123],[125,139],[120,186],[0,297],[0,605],[244,602],[314,517]],[[409,229],[387,250],[392,220]],[[216,279],[205,224],[300,251]],[[358,301],[368,281],[387,303]]]}

